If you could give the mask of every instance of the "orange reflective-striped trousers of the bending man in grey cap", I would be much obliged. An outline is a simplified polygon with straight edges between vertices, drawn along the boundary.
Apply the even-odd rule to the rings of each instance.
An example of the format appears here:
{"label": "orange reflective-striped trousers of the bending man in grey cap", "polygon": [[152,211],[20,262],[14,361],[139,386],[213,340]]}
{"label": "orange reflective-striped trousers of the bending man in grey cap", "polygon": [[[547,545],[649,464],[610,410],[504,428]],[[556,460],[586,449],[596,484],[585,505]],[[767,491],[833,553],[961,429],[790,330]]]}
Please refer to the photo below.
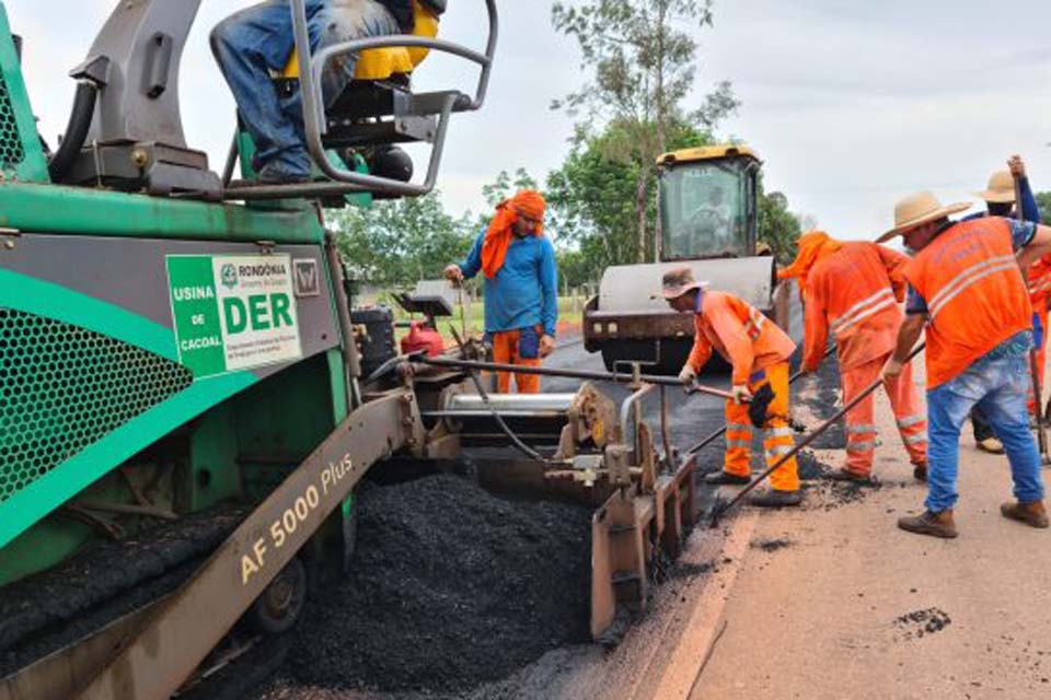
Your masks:
{"label": "orange reflective-striped trousers of the bending man in grey cap", "polygon": [[[761,370],[749,377],[748,388],[753,394],[763,384],[774,390],[767,413],[770,420],[763,429],[763,453],[766,467],[788,454],[795,446],[792,428],[788,425],[788,363],[781,362]],[[726,459],[723,467],[727,474],[747,477],[751,467],[752,424],[748,418],[748,405],[726,402]],[[771,476],[775,491],[799,490],[799,467],[793,457],[781,465]]]}

